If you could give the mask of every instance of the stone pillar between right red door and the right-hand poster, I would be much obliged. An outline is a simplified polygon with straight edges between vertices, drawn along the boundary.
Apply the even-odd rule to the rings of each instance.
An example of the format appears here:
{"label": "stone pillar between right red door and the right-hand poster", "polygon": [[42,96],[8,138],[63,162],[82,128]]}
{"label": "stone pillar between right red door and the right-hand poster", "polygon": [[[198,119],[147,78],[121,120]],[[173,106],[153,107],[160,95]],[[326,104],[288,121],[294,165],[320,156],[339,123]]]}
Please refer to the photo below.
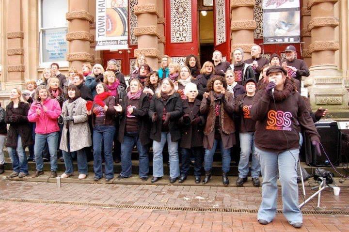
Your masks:
{"label": "stone pillar between right red door and the right-hand poster", "polygon": [[231,7],[231,57],[235,48],[240,47],[244,52],[244,60],[251,58],[251,47],[254,45],[255,0],[230,0]]}

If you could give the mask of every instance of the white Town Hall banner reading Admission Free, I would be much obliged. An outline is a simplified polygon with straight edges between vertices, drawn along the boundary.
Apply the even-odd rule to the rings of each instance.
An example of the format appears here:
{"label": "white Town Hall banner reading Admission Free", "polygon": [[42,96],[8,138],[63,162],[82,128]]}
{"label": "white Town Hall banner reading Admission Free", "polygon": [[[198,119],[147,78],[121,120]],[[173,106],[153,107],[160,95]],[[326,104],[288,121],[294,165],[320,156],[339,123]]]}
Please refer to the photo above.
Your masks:
{"label": "white Town Hall banner reading Admission Free", "polygon": [[96,0],[96,50],[128,48],[128,1]]}

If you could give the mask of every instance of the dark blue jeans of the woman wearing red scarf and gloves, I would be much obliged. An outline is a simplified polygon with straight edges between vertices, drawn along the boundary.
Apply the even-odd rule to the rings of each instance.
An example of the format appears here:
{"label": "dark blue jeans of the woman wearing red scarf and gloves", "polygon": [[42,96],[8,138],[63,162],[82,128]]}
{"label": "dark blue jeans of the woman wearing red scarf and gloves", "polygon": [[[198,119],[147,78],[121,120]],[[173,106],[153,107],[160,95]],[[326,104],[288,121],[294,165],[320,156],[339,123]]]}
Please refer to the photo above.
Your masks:
{"label": "dark blue jeans of the woman wearing red scarf and gloves", "polygon": [[104,149],[105,178],[114,178],[114,163],[111,149],[115,127],[113,125],[95,125],[93,131],[95,177],[102,178],[102,141]]}

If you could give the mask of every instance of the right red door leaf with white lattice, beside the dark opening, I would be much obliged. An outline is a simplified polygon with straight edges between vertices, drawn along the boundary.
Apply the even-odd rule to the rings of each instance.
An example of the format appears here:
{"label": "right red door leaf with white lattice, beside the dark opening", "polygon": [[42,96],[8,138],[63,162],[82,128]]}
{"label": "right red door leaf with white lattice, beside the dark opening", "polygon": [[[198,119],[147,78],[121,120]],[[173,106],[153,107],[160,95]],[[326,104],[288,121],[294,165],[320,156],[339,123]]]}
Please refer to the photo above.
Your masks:
{"label": "right red door leaf with white lattice, beside the dark opening", "polygon": [[213,0],[214,49],[230,62],[230,1]]}

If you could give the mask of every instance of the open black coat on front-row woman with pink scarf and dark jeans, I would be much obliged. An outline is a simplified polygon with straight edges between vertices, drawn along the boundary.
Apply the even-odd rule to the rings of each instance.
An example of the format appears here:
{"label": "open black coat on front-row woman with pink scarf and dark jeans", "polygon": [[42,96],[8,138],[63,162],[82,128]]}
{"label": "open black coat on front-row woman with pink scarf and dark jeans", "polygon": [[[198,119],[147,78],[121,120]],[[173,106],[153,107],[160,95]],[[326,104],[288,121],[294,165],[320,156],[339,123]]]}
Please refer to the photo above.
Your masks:
{"label": "open black coat on front-row woman with pink scarf and dark jeans", "polygon": [[[119,134],[118,134],[118,140],[122,143],[124,142],[124,135],[126,132],[126,110],[127,110],[127,95],[123,98],[123,102],[121,104],[123,111],[121,113],[120,117],[120,125],[119,125]],[[146,93],[142,93],[141,97],[139,99],[139,108],[134,108],[132,115],[138,117],[138,132],[139,132],[139,139],[141,140],[142,145],[147,145],[150,143],[149,139],[149,132],[150,132],[150,123],[148,117],[148,110],[150,106],[149,97]]]}

